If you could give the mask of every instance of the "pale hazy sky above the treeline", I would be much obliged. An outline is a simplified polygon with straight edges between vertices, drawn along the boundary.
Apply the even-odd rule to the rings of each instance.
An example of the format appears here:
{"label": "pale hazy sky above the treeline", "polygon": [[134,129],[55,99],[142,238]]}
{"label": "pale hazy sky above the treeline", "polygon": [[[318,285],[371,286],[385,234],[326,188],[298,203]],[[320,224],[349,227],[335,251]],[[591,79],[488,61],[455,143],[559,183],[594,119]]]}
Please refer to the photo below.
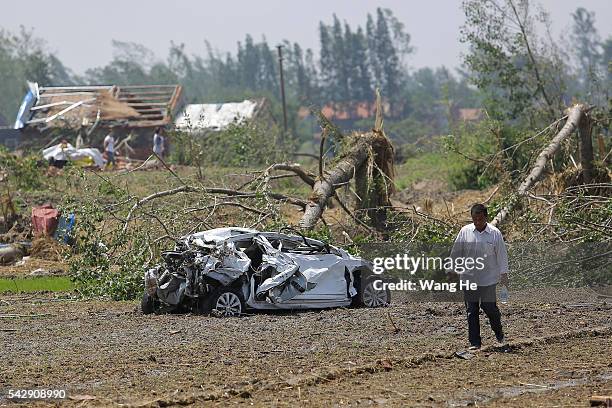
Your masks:
{"label": "pale hazy sky above the treeline", "polygon": [[[603,38],[612,35],[612,0],[540,0],[551,14],[556,34],[570,25],[570,13],[582,6],[596,12]],[[250,33],[266,36],[271,45],[282,39],[304,48],[318,48],[318,23],[332,14],[352,27],[365,26],[367,13],[390,8],[412,36],[416,53],[412,68],[457,66],[464,50],[459,42],[463,23],[461,0],[10,0],[2,4],[0,28],[34,28],[49,49],[77,73],[106,64],[111,40],[145,45],[162,59],[170,41],[185,43],[190,53],[204,54],[204,40],[220,51],[236,50]],[[607,22],[607,24],[606,24]]]}

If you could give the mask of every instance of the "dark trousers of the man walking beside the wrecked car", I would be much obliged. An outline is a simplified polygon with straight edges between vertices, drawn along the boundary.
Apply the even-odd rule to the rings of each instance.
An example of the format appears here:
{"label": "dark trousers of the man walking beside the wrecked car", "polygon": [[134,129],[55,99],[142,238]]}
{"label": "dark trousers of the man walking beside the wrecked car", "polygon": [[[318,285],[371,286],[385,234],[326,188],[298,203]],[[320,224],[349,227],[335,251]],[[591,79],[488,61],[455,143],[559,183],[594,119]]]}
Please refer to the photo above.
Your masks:
{"label": "dark trousers of the man walking beside the wrecked car", "polygon": [[504,337],[501,325],[501,313],[495,302],[496,286],[497,285],[478,286],[476,290],[466,290],[463,292],[465,308],[467,309],[468,315],[468,335],[470,345],[472,346],[480,347],[481,345],[479,307],[482,308],[483,312],[485,312],[489,318],[491,328],[493,332],[495,332],[497,340],[501,340]]}

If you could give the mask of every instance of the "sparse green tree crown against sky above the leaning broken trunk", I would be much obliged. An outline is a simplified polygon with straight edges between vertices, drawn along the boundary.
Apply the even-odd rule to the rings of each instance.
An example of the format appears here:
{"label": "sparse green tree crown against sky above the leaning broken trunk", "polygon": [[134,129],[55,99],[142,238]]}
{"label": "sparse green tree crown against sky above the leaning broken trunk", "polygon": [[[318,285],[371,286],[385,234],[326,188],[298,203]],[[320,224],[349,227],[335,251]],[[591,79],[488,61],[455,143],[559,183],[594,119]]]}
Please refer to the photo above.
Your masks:
{"label": "sparse green tree crown against sky above the leaning broken trunk", "polygon": [[528,0],[465,0],[461,40],[470,47],[465,63],[473,82],[486,93],[491,114],[500,118],[544,112],[560,116],[567,65],[554,43],[543,42],[539,25],[548,15],[534,13]]}

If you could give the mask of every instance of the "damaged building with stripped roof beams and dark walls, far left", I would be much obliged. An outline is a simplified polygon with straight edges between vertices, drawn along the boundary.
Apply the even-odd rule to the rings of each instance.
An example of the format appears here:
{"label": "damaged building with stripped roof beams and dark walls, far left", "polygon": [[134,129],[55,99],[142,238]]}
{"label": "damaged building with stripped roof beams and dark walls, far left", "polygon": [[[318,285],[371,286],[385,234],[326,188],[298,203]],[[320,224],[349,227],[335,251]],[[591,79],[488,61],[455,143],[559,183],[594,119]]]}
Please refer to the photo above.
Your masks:
{"label": "damaged building with stripped roof beams and dark walls, far left", "polygon": [[97,147],[112,130],[116,140],[130,136],[130,157],[146,158],[155,129],[172,125],[182,106],[179,85],[28,85],[14,127],[21,129],[22,143],[33,146],[80,134]]}

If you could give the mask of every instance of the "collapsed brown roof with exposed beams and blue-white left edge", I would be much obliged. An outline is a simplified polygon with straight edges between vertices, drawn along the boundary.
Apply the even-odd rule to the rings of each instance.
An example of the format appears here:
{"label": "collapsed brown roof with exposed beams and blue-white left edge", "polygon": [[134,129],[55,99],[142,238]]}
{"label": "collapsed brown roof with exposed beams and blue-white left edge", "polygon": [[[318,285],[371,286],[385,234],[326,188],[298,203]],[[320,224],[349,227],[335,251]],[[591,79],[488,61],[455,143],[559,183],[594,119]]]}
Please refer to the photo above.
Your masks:
{"label": "collapsed brown roof with exposed beams and blue-white left edge", "polygon": [[179,85],[39,87],[30,83],[15,126],[165,126],[172,121],[181,91]]}

